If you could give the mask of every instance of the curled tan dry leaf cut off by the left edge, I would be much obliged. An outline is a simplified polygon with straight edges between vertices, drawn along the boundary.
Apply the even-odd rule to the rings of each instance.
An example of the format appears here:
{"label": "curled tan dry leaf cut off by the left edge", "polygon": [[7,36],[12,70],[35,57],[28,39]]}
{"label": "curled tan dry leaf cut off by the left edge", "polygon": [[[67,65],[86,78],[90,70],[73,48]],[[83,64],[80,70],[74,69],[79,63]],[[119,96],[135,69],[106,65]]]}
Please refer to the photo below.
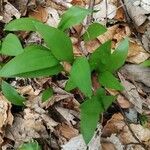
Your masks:
{"label": "curled tan dry leaf cut off by the left edge", "polygon": [[13,115],[11,114],[11,104],[6,100],[6,98],[0,94],[0,145],[3,142],[4,127],[7,125],[12,125]]}

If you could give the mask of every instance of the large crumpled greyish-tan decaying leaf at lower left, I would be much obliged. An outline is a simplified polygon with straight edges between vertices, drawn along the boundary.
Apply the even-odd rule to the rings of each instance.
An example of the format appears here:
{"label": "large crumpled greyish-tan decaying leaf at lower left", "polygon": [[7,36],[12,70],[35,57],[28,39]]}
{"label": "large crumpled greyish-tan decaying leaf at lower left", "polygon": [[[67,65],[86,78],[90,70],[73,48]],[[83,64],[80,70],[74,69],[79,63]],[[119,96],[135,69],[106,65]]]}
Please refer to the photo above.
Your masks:
{"label": "large crumpled greyish-tan decaying leaf at lower left", "polygon": [[27,106],[24,115],[16,115],[12,127],[6,130],[6,137],[15,141],[15,147],[33,138],[48,138],[46,128],[53,132],[54,127],[58,125],[40,108],[38,99],[28,102]]}

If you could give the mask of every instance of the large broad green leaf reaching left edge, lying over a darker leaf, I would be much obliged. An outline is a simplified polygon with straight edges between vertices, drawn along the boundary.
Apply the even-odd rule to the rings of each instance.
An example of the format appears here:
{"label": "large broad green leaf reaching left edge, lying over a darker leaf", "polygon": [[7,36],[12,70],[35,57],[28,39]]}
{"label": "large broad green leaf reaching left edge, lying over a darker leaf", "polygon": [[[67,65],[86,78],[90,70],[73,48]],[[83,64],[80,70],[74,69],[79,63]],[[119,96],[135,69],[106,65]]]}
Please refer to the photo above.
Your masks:
{"label": "large broad green leaf reaching left edge, lying over a darker leaf", "polygon": [[33,71],[39,72],[40,70],[48,69],[58,64],[58,60],[49,50],[30,49],[16,56],[4,65],[0,70],[0,76],[15,77],[21,74],[30,74]]}

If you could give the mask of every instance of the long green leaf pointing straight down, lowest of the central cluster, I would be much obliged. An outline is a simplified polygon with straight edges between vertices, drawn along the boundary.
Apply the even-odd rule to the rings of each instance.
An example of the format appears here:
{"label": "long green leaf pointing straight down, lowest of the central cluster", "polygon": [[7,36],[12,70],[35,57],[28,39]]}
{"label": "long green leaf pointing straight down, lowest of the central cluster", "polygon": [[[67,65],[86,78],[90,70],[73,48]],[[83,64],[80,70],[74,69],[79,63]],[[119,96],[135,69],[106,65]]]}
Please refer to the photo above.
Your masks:
{"label": "long green leaf pointing straight down, lowest of the central cluster", "polygon": [[102,109],[100,101],[96,96],[81,104],[80,130],[86,144],[93,137]]}

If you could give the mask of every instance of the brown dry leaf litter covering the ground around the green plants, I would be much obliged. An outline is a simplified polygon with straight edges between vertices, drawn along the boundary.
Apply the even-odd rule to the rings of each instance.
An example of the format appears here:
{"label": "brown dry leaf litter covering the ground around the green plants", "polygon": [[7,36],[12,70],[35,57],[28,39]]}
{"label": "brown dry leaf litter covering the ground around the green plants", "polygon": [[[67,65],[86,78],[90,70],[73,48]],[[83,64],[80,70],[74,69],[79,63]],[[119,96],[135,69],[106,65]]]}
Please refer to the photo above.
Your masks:
{"label": "brown dry leaf litter covering the ground around the green plants", "polygon": [[[124,37],[129,37],[128,57],[117,73],[125,90],[106,89],[117,99],[102,114],[95,135],[86,146],[79,130],[83,95],[78,90],[71,93],[64,90],[68,80],[64,72],[49,78],[6,78],[27,102],[24,108],[12,105],[1,92],[0,149],[17,149],[34,139],[43,150],[150,150],[150,68],[139,66],[150,57],[149,0],[0,0],[0,40],[7,35],[3,30],[5,24],[15,18],[33,17],[57,27],[61,15],[72,5],[98,10],[88,21],[85,19],[83,24],[69,30],[75,56],[93,53],[107,40],[112,40],[114,48]],[[105,25],[108,31],[80,43],[78,35],[94,21]],[[24,46],[43,42],[37,33],[16,34]],[[1,62],[6,60],[6,56],[0,56]],[[94,79],[93,84],[99,86]],[[42,103],[41,94],[47,87],[54,94]]]}

